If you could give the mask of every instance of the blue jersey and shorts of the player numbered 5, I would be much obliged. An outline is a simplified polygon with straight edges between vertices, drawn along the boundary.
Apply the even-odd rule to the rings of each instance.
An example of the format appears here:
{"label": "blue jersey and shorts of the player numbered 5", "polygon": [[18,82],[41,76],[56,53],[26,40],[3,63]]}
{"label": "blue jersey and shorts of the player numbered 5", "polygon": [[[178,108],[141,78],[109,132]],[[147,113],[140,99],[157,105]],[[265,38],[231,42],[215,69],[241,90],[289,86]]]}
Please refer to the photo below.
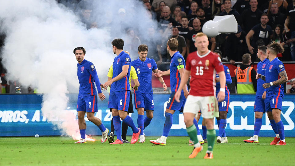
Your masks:
{"label": "blue jersey and shorts of the player numbered 5", "polygon": [[131,62],[135,68],[140,86],[134,91],[135,108],[144,108],[144,110],[154,110],[153,89],[151,86],[151,76],[155,69],[158,69],[154,59],[146,58],[141,61],[140,58]]}

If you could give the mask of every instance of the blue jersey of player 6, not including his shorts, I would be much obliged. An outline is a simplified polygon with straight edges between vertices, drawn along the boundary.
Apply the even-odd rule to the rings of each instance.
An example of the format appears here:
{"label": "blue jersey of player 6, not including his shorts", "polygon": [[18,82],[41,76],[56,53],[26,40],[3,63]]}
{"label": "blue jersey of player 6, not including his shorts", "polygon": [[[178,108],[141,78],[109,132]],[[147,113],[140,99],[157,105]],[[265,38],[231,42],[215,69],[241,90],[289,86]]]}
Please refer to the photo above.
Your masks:
{"label": "blue jersey of player 6, not including his shorts", "polygon": [[126,76],[112,83],[111,92],[130,90],[130,85],[129,85],[130,68],[131,68],[130,61],[131,61],[130,56],[128,55],[128,53],[125,53],[124,51],[122,51],[118,56],[115,57],[113,62],[112,78],[117,77],[123,71],[122,67],[124,65],[129,65],[129,69]]}

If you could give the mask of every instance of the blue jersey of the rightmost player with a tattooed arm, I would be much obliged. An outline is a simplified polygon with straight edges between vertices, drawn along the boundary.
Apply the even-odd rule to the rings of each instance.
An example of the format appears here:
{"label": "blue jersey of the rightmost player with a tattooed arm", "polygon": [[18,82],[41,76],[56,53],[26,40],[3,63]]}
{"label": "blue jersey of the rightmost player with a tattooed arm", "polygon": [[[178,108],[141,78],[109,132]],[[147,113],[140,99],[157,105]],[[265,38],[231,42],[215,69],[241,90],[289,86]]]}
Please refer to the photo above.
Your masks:
{"label": "blue jersey of the rightmost player with a tattooed arm", "polygon": [[[275,58],[266,66],[265,69],[265,82],[277,81],[279,78],[279,73],[285,71],[284,64],[278,59]],[[273,85],[266,89],[267,96],[280,95],[284,97],[284,84]]]}

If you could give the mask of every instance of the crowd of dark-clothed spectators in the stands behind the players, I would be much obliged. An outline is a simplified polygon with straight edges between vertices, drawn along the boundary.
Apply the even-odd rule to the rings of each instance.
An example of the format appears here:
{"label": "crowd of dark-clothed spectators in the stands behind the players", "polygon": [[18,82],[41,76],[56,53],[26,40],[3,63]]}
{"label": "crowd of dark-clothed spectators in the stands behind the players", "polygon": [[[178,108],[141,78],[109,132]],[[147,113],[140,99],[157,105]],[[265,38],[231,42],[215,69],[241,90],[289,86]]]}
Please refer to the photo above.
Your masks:
{"label": "crowd of dark-clothed spectators in the stands behind the players", "polygon": [[[204,23],[213,20],[214,16],[230,14],[233,14],[238,22],[238,32],[209,38],[209,49],[221,51],[223,62],[237,65],[236,62],[241,62],[242,56],[246,53],[250,53],[252,61],[258,62],[257,48],[268,45],[271,41],[279,42],[284,47],[285,52],[277,55],[281,61],[295,61],[295,0],[138,1],[142,1],[147,16],[155,20],[158,25],[151,24],[148,27],[149,39],[139,34],[139,30],[132,25],[125,25],[124,29],[121,29],[123,33],[128,34],[124,39],[126,41],[124,50],[128,50],[131,56],[137,56],[138,45],[148,44],[149,57],[155,59],[160,70],[169,69],[171,57],[166,49],[169,38],[178,40],[178,51],[186,60],[189,53],[196,51],[195,35],[202,32]],[[105,22],[97,22],[94,19],[93,15],[97,11],[92,6],[93,0],[57,0],[57,2],[79,15],[87,29],[108,27],[112,22],[111,19]],[[128,11],[120,8],[117,14],[124,19],[126,12]],[[0,47],[4,39],[5,35],[1,35]],[[153,42],[146,42],[151,40]],[[2,87],[9,85],[5,79],[6,71],[1,64],[1,55],[0,73]],[[18,87],[17,81],[10,84],[15,85],[13,89]],[[6,93],[9,93],[8,89],[6,88]],[[28,93],[33,93],[32,89],[27,90]]]}

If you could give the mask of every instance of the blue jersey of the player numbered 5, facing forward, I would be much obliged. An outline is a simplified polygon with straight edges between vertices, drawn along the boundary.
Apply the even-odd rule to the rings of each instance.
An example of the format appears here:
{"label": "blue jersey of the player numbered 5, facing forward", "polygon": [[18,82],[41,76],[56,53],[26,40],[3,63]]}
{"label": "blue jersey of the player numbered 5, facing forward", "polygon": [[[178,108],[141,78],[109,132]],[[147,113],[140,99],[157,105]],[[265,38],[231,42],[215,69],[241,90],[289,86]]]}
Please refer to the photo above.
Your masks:
{"label": "blue jersey of the player numbered 5, facing forward", "polygon": [[131,65],[135,68],[139,87],[136,93],[153,93],[151,87],[151,75],[153,70],[158,69],[154,59],[147,58],[144,62],[139,58],[132,61]]}

